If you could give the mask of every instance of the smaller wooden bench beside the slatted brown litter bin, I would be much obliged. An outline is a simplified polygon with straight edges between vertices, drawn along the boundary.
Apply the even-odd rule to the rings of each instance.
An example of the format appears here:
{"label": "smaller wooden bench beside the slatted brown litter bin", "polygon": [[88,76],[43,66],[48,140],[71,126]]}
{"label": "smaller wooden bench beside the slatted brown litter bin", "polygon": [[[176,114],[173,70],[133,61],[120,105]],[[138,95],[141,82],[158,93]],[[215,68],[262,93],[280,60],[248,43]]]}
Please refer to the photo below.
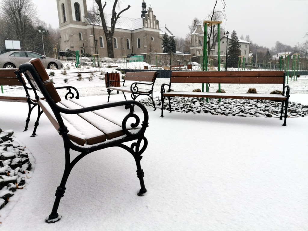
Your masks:
{"label": "smaller wooden bench beside the slatted brown litter bin", "polygon": [[[110,93],[114,90],[122,91],[125,100],[126,96],[124,92],[131,93],[133,100],[136,100],[136,98],[140,95],[148,95],[152,99],[155,111],[156,107],[153,100],[153,87],[157,75],[158,73],[156,71],[126,72],[124,81],[109,80],[107,82],[108,102]],[[130,82],[129,86],[125,86],[125,81],[133,81],[133,83]],[[123,83],[123,85],[119,86],[120,83]]]}

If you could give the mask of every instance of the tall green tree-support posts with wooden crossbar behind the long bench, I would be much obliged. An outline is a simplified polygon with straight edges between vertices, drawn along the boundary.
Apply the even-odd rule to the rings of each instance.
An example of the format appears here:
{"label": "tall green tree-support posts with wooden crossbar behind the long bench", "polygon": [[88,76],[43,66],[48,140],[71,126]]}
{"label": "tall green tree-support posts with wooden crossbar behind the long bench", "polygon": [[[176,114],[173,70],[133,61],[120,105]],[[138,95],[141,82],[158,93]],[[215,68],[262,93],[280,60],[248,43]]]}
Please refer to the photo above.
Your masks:
{"label": "tall green tree-support posts with wooden crossbar behind the long bench", "polygon": [[[204,24],[204,37],[203,37],[203,62],[202,62],[202,70],[207,71],[208,70],[208,50],[207,50],[207,40],[208,40],[208,26],[217,25],[217,51],[218,51],[218,71],[220,71],[220,24],[222,21],[209,21],[205,20],[203,21]],[[206,25],[205,25],[206,24]],[[206,92],[209,91],[208,89],[208,83],[205,84],[205,90]],[[218,91],[220,92],[220,83],[218,83]],[[204,92],[204,83],[202,83],[202,92]],[[203,98],[202,98],[203,100]],[[209,98],[206,98],[206,102],[209,102]],[[221,99],[219,99],[219,102],[221,102]]]}

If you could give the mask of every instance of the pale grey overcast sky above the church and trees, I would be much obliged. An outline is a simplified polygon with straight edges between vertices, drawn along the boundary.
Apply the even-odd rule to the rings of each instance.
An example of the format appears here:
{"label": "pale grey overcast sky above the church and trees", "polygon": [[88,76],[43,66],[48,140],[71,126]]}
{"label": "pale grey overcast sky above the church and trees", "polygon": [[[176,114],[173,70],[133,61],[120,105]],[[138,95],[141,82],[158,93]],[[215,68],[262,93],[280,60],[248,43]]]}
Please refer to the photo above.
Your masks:
{"label": "pale grey overcast sky above the church and trees", "polygon": [[[40,19],[52,27],[59,27],[56,1],[32,0],[37,5]],[[113,2],[106,0],[106,13],[111,14]],[[222,0],[217,1],[217,10],[222,10]],[[94,0],[87,0],[88,10]],[[103,1],[104,2],[104,1]],[[165,24],[175,36],[185,38],[188,25],[193,19],[208,20],[207,15],[213,9],[215,0],[145,0],[147,9],[151,8],[159,20],[160,27]],[[276,41],[295,46],[303,43],[308,32],[308,0],[225,0],[226,20],[222,28],[230,33],[235,30],[237,36],[250,36],[253,43],[272,48]],[[96,3],[95,3],[96,4]],[[128,5],[129,10],[121,14],[128,18],[141,16],[142,0],[122,0],[121,9]],[[120,10],[117,10],[120,12]],[[108,25],[107,25],[108,26]]]}

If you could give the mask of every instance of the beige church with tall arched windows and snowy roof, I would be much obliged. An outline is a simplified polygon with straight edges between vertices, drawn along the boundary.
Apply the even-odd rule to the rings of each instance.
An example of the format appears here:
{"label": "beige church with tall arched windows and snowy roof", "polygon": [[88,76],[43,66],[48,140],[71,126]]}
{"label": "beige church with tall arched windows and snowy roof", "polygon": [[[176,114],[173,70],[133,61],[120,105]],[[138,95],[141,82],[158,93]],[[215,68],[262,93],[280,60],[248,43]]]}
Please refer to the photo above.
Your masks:
{"label": "beige church with tall arched windows and snowy roof", "polygon": [[[98,53],[107,57],[107,43],[100,18],[87,11],[86,0],[57,0],[60,50],[79,51],[79,54]],[[132,53],[162,53],[162,38],[165,33],[173,36],[167,27],[160,27],[151,7],[146,3],[140,7],[141,17],[126,18],[120,16],[115,25],[113,50],[115,58]],[[128,9],[129,10],[129,9]],[[110,30],[111,14],[104,12],[106,25]],[[160,39],[161,38],[161,39]]]}

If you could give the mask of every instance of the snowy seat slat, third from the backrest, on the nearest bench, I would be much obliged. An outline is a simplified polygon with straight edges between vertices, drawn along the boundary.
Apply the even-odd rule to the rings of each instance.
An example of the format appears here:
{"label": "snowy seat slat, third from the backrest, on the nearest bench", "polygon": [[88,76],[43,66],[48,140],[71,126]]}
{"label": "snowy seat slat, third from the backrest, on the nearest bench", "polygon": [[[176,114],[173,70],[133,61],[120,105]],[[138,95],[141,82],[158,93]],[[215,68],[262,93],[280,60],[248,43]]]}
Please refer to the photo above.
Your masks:
{"label": "snowy seat slat, third from the backrest, on the nearest bench", "polygon": [[[60,103],[70,109],[83,108],[80,105],[72,102],[71,100],[62,100]],[[106,120],[102,116],[99,116],[92,111],[80,113],[78,115],[82,117],[84,120],[86,120],[87,122],[89,122],[90,124],[92,124],[97,129],[102,131],[106,135],[108,140],[124,135],[124,132],[121,126],[114,124],[113,122],[110,122],[109,120]]]}

